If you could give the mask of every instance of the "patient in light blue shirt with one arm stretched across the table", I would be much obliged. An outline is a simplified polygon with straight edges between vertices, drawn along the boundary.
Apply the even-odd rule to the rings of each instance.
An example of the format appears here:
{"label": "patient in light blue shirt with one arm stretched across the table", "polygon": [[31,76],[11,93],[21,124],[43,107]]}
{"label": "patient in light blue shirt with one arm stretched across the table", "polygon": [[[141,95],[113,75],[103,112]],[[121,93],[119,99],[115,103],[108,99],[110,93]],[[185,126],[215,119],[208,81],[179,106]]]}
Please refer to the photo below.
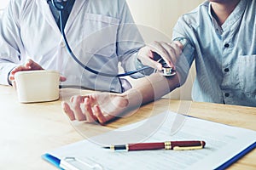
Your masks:
{"label": "patient in light blue shirt with one arm stretched across the table", "polygon": [[[251,0],[202,3],[189,14],[183,14],[174,27],[174,40],[188,40],[175,64],[174,77],[155,73],[139,79],[137,87],[124,94],[74,96],[72,105],[62,103],[64,111],[71,120],[106,123],[181,86],[194,59],[193,100],[256,106],[255,7]],[[141,59],[144,65],[149,60]]]}

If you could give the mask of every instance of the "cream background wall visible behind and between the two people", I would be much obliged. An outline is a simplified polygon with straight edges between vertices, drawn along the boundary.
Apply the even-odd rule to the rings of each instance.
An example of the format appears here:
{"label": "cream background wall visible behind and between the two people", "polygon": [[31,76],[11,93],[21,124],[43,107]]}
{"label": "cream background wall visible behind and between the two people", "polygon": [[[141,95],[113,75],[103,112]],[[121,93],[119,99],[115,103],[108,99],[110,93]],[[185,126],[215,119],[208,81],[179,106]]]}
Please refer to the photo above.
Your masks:
{"label": "cream background wall visible behind and between the two people", "polygon": [[[148,34],[143,29],[141,32],[146,42],[170,41],[172,39],[172,28],[179,16],[188,13],[196,8],[204,0],[126,0],[131,14],[139,28],[148,28],[151,31],[158,32],[160,35]],[[0,0],[0,15],[7,6],[9,0]],[[147,29],[146,29],[147,30]],[[150,36],[148,36],[150,35]],[[193,65],[187,82],[182,88],[178,88],[172,94],[167,95],[173,99],[191,99],[191,88],[195,78],[195,66]],[[131,83],[135,83],[128,78]]]}

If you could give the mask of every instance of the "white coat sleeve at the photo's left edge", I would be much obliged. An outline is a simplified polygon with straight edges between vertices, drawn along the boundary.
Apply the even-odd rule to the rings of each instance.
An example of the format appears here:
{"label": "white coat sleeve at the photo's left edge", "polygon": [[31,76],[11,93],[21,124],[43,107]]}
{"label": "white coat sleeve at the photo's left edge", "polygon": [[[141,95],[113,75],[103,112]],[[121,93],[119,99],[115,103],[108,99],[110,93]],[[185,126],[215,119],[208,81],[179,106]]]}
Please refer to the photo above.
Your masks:
{"label": "white coat sleeve at the photo's left edge", "polygon": [[3,85],[9,85],[9,71],[20,63],[22,51],[20,44],[22,43],[18,21],[19,11],[19,5],[15,0],[11,0],[0,20],[0,84]]}

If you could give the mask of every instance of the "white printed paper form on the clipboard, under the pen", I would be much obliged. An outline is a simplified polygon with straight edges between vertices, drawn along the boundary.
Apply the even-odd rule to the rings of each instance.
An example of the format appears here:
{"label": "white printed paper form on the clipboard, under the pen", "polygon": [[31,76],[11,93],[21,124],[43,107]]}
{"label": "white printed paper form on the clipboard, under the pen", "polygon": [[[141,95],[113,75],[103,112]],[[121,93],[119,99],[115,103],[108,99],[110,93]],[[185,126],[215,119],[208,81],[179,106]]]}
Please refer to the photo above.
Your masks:
{"label": "white printed paper form on the clipboard, under the pen", "polygon": [[[236,156],[256,141],[256,132],[253,130],[230,127],[189,116],[182,117],[184,120],[182,126],[177,133],[172,134],[171,127],[173,120],[177,116],[183,115],[167,111],[158,116],[150,117],[143,122],[121,127],[89,140],[69,144],[49,152],[49,154],[62,160],[65,157],[75,157],[84,162],[84,164],[88,164],[90,168],[95,166],[95,169],[214,169],[229,161],[230,158]],[[148,132],[152,131],[150,135],[146,132],[147,129],[143,127],[147,124],[146,122],[150,125]],[[139,127],[143,128],[140,130]],[[158,128],[153,132],[150,127]],[[120,139],[119,134],[127,131],[132,131],[133,137],[124,135]],[[144,136],[145,133],[147,134],[146,136]],[[102,149],[102,145],[134,143],[137,142],[135,141],[137,139],[142,142],[204,140],[206,147],[201,150],[143,150],[128,152]],[[124,140],[126,141],[125,143]],[[88,167],[81,166],[79,169],[90,169]]]}

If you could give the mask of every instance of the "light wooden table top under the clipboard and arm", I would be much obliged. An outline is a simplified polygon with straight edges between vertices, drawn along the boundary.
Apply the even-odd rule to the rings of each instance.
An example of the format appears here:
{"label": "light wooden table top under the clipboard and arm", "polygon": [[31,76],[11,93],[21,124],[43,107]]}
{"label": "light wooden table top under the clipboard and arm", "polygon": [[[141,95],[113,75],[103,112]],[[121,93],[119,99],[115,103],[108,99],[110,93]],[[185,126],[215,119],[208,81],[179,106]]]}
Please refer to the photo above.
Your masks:
{"label": "light wooden table top under the clipboard and arm", "polygon": [[[61,110],[61,100],[73,94],[91,91],[61,89],[61,99],[54,102],[20,104],[15,90],[0,86],[0,169],[56,169],[41,156],[49,150],[84,139]],[[141,107],[132,116],[119,119],[106,128],[121,127],[147,116],[166,111],[183,112],[213,122],[256,130],[256,108],[218,105],[174,99],[160,99]],[[76,122],[79,123],[79,122]],[[101,133],[102,127],[80,123],[91,135]],[[90,136],[90,134],[88,135]],[[256,169],[256,150],[233,164],[230,169]]]}

